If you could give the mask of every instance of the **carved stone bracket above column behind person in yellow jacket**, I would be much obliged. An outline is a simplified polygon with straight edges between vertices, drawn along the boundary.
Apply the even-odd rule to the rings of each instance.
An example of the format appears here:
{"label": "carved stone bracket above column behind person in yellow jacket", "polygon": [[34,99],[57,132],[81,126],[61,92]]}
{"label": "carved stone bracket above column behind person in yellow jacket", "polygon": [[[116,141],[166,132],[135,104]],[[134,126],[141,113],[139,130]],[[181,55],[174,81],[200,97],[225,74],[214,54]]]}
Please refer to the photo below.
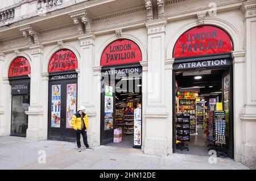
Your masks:
{"label": "carved stone bracket above column behind person in yellow jacket", "polygon": [[79,11],[69,14],[73,19],[73,23],[77,25],[79,35],[92,32],[92,18],[86,11]]}

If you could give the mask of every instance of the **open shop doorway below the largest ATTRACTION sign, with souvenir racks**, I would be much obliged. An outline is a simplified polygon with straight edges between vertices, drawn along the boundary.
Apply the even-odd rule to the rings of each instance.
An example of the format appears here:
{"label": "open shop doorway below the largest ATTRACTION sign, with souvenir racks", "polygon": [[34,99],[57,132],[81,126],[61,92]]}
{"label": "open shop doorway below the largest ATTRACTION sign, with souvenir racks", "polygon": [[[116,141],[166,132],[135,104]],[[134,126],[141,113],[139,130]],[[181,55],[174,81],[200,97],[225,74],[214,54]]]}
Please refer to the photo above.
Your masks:
{"label": "open shop doorway below the largest ATTRACTION sign, with souvenir racks", "polygon": [[233,158],[232,66],[176,70],[174,81],[175,152]]}

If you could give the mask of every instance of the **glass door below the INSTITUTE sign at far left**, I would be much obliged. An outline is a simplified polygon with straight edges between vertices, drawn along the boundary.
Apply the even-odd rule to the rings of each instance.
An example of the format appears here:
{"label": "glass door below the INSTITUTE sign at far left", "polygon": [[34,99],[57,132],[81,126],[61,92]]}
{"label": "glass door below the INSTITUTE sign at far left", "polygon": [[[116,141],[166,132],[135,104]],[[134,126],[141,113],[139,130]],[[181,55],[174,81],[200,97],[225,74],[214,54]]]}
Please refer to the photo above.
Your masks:
{"label": "glass door below the INSTITUTE sign at far left", "polygon": [[28,127],[29,95],[13,95],[11,104],[11,136],[26,137]]}

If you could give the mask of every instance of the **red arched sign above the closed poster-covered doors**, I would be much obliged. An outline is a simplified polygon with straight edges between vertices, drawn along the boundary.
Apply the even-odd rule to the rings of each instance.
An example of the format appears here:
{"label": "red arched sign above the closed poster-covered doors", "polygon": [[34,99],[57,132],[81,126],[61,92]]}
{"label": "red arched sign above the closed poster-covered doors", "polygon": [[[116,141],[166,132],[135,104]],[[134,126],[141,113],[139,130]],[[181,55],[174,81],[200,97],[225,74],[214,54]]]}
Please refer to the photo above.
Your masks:
{"label": "red arched sign above the closed poster-covered doors", "polygon": [[48,72],[75,70],[78,68],[76,55],[68,49],[61,49],[53,54],[49,61]]}

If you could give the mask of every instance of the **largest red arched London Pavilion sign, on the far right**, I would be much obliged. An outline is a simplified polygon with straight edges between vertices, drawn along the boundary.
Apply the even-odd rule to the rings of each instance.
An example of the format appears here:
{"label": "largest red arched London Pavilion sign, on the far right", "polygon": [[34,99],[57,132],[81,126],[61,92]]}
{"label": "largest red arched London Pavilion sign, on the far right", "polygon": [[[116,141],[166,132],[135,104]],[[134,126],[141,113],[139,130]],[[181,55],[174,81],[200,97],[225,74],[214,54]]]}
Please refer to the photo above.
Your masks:
{"label": "largest red arched London Pavilion sign, on the far right", "polygon": [[229,53],[232,50],[228,33],[214,26],[200,26],[179,37],[174,47],[174,58]]}

